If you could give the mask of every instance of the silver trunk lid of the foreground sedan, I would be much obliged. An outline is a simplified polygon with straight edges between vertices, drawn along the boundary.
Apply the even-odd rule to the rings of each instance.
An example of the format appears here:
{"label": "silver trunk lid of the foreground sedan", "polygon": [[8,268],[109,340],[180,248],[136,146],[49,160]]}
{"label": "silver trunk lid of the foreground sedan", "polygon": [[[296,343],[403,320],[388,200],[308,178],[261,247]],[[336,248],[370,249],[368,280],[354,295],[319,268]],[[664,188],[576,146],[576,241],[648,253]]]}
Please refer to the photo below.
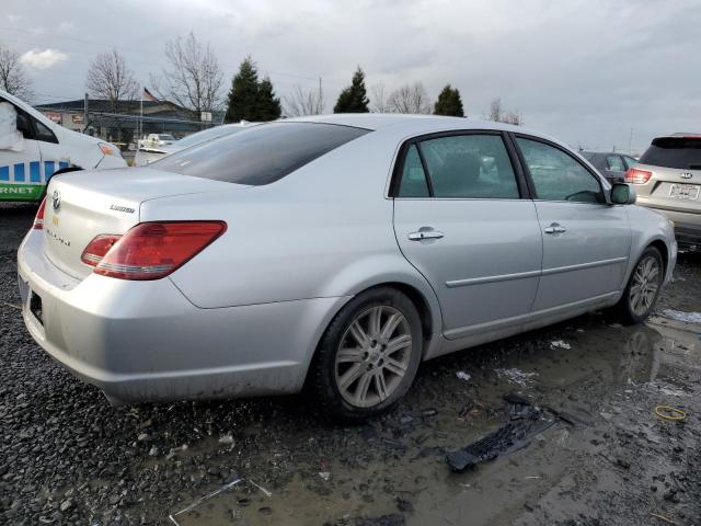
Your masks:
{"label": "silver trunk lid of the foreground sedan", "polygon": [[142,203],[160,197],[246,188],[221,181],[151,169],[71,172],[53,178],[44,213],[44,253],[82,279],[93,267],[81,261],[99,235],[124,235],[139,222]]}

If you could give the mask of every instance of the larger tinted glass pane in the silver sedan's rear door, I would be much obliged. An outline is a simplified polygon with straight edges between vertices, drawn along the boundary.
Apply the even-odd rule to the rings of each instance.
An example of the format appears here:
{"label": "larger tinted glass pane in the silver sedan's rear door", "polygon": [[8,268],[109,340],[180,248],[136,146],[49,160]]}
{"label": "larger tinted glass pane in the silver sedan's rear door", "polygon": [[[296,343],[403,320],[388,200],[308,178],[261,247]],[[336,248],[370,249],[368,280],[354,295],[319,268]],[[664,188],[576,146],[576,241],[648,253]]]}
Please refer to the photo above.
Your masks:
{"label": "larger tinted glass pane in the silver sedan's rear door", "polygon": [[438,137],[420,142],[418,148],[434,197],[519,198],[516,175],[501,136]]}

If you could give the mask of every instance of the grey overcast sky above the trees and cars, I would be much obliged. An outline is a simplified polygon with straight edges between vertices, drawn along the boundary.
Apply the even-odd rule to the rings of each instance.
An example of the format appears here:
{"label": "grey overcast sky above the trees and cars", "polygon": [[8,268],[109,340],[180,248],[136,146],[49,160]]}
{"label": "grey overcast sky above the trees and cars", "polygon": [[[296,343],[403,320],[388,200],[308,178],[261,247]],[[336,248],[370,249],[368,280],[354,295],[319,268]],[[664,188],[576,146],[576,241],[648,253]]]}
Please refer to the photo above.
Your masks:
{"label": "grey overcast sky above the trees and cars", "polygon": [[574,147],[644,149],[701,132],[701,2],[596,0],[2,0],[0,42],[23,55],[37,102],[79,99],[116,48],[148,85],[169,38],[209,41],[226,72],[249,54],[279,95],[323,78],[326,112],[356,66],[368,87],[460,89]]}

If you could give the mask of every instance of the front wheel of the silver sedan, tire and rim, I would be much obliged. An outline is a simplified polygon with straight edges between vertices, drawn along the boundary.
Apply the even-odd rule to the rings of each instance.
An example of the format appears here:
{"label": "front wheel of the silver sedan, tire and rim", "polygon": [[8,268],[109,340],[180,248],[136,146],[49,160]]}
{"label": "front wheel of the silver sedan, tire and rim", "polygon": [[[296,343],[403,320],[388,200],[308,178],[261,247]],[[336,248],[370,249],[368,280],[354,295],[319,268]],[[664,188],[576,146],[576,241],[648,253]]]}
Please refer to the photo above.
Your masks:
{"label": "front wheel of the silver sedan, tire and rim", "polygon": [[664,273],[662,254],[656,248],[647,247],[635,263],[623,296],[611,309],[613,318],[627,325],[645,321],[659,297]]}

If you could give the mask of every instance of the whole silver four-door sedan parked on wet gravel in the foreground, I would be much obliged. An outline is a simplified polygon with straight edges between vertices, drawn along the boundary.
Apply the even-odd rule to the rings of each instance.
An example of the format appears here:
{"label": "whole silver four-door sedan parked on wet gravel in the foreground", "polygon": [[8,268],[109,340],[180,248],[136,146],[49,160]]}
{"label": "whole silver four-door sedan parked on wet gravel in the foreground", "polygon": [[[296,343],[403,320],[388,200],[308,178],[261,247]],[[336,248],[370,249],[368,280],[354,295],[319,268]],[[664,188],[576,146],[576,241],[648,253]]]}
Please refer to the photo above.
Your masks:
{"label": "whole silver four-door sedan parked on wet gravel in the foreground", "polygon": [[34,339],[113,403],[292,393],[359,420],[422,361],[671,276],[659,214],[572,149],[464,118],[333,115],[54,178],[19,251]]}

